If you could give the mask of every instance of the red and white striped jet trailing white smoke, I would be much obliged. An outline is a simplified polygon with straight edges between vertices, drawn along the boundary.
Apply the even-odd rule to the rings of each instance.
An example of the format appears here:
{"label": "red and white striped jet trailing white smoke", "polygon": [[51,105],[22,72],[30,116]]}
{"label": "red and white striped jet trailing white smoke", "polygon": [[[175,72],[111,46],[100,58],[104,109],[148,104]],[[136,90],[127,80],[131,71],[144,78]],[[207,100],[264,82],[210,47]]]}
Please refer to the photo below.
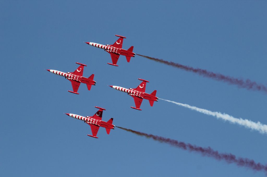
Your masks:
{"label": "red and white striped jet trailing white smoke", "polygon": [[137,109],[137,110],[142,110],[139,109],[141,106],[141,103],[143,101],[143,99],[147,99],[149,100],[150,106],[153,106],[154,101],[158,101],[159,98],[156,97],[156,90],[154,90],[151,94],[145,93],[146,91],[146,83],[149,81],[143,80],[143,79],[139,79],[140,81],[143,81],[138,87],[136,87],[135,89],[125,89],[123,87],[118,87],[118,86],[112,86],[110,85],[109,87],[112,87],[113,89],[117,89],[119,91],[123,91],[128,93],[128,95],[131,95],[134,99],[135,102],[135,107],[132,107],[133,109]]}

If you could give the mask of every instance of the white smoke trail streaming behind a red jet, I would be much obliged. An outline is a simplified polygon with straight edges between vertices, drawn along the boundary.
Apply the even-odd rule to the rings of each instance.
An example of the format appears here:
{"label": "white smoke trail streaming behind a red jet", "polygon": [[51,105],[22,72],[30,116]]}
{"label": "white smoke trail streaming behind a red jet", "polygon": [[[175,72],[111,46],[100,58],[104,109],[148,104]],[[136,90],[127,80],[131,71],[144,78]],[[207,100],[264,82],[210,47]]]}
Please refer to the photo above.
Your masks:
{"label": "white smoke trail streaming behind a red jet", "polygon": [[[159,98],[159,99],[161,99],[161,98]],[[177,103],[177,102],[170,101],[170,100],[165,100],[165,99],[161,99],[161,100],[164,100],[164,101],[167,101],[167,102],[171,102],[171,103],[177,104],[179,106],[183,106],[183,107],[186,107],[186,108],[195,110],[197,112],[204,113],[206,115],[214,116],[217,119],[228,120],[231,123],[243,125],[246,128],[250,128],[252,130],[257,130],[260,133],[267,133],[267,125],[262,124],[259,121],[256,123],[256,122],[253,122],[253,121],[248,120],[248,119],[245,119],[245,120],[242,119],[242,118],[239,118],[238,119],[238,118],[235,118],[233,116],[230,116],[230,115],[228,115],[226,113],[212,112],[212,111],[209,111],[207,109],[202,109],[202,108],[198,108],[198,107],[195,107],[195,106],[190,106],[188,104]]]}

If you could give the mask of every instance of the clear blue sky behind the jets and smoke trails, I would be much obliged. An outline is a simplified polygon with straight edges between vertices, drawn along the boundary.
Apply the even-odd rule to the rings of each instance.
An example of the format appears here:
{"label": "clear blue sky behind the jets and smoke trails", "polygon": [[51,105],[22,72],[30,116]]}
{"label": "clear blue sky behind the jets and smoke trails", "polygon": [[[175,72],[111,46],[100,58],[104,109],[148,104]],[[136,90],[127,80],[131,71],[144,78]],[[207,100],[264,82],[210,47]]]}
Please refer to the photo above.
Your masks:
{"label": "clear blue sky behind the jets and smoke trails", "polygon": [[[234,117],[267,124],[266,94],[240,89],[136,56],[107,65],[113,44],[133,52],[266,85],[265,1],[0,1],[1,176],[264,176],[160,144],[116,128],[109,135],[64,115],[92,116],[266,164],[266,135],[175,104],[133,99],[108,87],[135,88]],[[91,91],[45,69],[72,72],[84,63],[95,74]]]}

